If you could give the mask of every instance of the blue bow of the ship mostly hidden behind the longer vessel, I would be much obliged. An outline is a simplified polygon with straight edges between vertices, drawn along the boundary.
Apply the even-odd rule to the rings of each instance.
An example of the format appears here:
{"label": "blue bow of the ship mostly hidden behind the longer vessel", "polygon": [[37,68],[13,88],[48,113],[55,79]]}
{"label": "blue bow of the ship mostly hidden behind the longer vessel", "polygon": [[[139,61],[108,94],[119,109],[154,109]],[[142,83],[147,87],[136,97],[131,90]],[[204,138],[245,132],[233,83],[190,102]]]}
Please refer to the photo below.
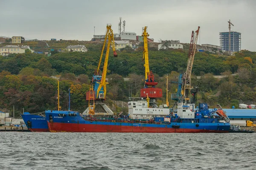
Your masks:
{"label": "blue bow of the ship mostly hidden behind the longer vessel", "polygon": [[25,112],[21,115],[26,127],[32,132],[49,132],[46,118],[43,114],[30,114]]}

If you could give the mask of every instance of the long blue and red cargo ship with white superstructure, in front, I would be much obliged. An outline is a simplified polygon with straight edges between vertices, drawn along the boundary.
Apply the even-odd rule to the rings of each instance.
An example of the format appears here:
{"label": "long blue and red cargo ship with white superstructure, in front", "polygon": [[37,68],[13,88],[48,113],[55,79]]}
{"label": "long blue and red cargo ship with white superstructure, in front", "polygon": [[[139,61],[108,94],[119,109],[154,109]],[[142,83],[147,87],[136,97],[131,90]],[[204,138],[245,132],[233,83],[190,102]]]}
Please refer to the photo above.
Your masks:
{"label": "long blue and red cargo ship with white superstructure, in front", "polygon": [[181,103],[177,113],[170,113],[169,108],[148,108],[146,101],[128,102],[128,108],[129,117],[123,118],[70,111],[47,110],[45,114],[50,132],[228,133],[230,129],[224,111],[209,111],[206,103],[200,103],[196,111]]}

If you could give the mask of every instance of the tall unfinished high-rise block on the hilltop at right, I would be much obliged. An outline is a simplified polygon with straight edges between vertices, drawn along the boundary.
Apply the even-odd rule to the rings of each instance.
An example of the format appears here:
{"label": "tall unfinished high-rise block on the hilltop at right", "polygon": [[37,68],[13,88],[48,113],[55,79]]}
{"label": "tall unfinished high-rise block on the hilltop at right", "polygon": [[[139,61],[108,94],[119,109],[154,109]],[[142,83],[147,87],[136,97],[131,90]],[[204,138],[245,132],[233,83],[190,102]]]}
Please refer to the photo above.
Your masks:
{"label": "tall unfinished high-rise block on the hilltop at right", "polygon": [[[229,51],[229,32],[220,32],[220,45],[223,51]],[[230,51],[241,50],[241,33],[230,31]]]}

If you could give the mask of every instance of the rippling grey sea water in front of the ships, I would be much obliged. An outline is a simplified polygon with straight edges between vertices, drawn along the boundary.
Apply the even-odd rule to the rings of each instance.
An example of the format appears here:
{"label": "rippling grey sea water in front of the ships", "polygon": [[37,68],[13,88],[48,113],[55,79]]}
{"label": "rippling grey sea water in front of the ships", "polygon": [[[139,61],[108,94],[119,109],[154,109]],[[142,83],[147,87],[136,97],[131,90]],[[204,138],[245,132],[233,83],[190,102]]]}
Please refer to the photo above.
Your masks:
{"label": "rippling grey sea water in front of the ships", "polygon": [[6,170],[255,170],[256,133],[0,132]]}

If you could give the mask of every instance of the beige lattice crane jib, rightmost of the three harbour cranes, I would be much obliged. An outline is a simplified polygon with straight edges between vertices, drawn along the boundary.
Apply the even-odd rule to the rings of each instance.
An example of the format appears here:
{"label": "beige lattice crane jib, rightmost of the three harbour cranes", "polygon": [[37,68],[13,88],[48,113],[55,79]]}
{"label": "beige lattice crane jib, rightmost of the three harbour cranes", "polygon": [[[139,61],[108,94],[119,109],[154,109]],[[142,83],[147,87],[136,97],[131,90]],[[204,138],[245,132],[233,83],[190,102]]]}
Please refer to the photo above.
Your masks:
{"label": "beige lattice crane jib, rightmost of the three harbour cranes", "polygon": [[191,102],[190,101],[190,90],[191,90],[191,74],[192,74],[192,67],[195,58],[195,50],[196,44],[198,40],[200,26],[198,26],[198,30],[192,31],[190,46],[189,46],[189,54],[188,54],[188,63],[186,68],[186,73],[183,75],[183,84],[181,89],[181,95],[184,103]]}

